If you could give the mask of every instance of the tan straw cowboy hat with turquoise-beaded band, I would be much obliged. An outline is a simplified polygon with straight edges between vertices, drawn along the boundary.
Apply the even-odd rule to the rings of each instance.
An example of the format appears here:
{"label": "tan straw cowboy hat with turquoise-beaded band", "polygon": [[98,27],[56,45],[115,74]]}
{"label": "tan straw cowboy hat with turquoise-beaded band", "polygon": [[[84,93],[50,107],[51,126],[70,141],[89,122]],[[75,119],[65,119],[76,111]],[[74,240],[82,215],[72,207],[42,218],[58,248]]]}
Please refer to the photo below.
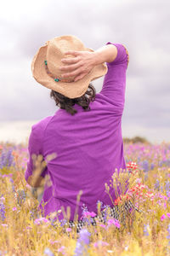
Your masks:
{"label": "tan straw cowboy hat with turquoise-beaded band", "polygon": [[94,49],[86,48],[82,41],[75,36],[66,35],[52,38],[37,50],[37,54],[34,55],[31,62],[31,72],[39,84],[69,98],[77,98],[88,90],[90,81],[107,73],[107,66],[105,63],[96,65],[87,75],[76,82],[74,82],[75,77],[62,79],[60,76],[65,72],[59,70],[59,67],[63,65],[61,59],[72,57],[72,55],[65,55],[65,51],[70,49],[94,52]]}

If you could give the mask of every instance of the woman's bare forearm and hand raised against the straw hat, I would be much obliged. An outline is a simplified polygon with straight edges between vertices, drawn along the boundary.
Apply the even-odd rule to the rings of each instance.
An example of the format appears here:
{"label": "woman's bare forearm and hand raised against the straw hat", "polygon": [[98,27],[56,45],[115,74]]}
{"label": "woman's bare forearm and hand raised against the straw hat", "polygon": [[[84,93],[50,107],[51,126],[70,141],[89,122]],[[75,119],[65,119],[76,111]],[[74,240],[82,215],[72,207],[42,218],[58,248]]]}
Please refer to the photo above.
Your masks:
{"label": "woman's bare forearm and hand raised against the straw hat", "polygon": [[74,55],[73,58],[64,58],[61,61],[65,66],[60,67],[63,71],[62,78],[75,76],[75,81],[82,79],[96,65],[111,62],[116,59],[117,49],[115,45],[105,45],[94,52],[69,50],[65,55]]}

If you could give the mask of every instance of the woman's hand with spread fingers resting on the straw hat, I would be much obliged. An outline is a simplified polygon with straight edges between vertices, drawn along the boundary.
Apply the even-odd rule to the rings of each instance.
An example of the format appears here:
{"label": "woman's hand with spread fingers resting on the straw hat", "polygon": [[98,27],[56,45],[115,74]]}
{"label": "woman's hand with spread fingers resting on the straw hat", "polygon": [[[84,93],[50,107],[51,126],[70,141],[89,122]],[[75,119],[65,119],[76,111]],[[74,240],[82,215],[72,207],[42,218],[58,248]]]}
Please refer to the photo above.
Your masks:
{"label": "woman's hand with spread fingers resting on the straw hat", "polygon": [[74,81],[76,82],[87,75],[96,65],[95,52],[68,50],[65,55],[74,55],[75,57],[61,60],[65,64],[65,66],[59,67],[61,71],[65,72],[61,75],[62,78],[75,76]]}

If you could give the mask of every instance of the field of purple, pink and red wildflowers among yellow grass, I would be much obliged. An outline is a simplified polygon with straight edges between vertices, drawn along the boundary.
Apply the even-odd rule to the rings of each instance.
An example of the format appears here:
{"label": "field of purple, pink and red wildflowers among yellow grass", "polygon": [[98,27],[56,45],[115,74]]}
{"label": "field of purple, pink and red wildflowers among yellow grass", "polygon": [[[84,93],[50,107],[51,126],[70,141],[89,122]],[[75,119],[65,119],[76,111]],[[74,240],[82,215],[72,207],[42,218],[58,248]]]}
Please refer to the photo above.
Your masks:
{"label": "field of purple, pink and red wildflowers among yellow grass", "polygon": [[24,177],[27,145],[0,143],[0,255],[170,255],[170,143],[124,143],[124,155],[127,171],[115,172],[105,193],[117,181],[123,187],[128,177],[126,194],[114,204],[131,200],[140,211],[132,209],[123,226],[98,201],[105,224],[90,224],[96,213],[84,208],[85,225],[77,233],[66,221],[37,211],[39,202]]}

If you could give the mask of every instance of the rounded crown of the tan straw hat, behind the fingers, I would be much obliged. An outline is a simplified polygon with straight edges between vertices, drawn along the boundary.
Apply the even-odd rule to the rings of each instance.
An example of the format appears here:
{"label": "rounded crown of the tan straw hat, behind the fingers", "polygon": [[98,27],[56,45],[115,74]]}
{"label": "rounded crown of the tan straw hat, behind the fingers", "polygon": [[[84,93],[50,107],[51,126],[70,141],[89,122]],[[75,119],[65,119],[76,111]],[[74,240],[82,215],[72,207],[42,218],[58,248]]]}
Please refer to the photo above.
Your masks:
{"label": "rounded crown of the tan straw hat, behind the fingers", "polygon": [[[63,66],[64,63],[61,61],[63,58],[70,58],[73,55],[65,55],[67,50],[87,50],[82,41],[75,36],[62,36],[59,38],[53,38],[48,43],[47,56],[48,61],[48,70],[55,77],[61,77],[64,71],[59,70],[60,66]],[[67,80],[74,79],[73,77],[68,77]]]}

